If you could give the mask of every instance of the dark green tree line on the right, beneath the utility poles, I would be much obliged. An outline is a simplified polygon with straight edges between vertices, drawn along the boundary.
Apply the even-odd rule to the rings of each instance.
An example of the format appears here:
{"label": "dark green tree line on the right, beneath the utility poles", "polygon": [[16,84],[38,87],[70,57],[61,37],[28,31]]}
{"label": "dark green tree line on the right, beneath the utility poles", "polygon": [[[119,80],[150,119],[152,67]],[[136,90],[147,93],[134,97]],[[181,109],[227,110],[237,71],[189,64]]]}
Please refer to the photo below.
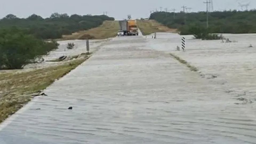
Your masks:
{"label": "dark green tree line on the right, beneath the utility poles", "polygon": [[[206,12],[169,13],[155,12],[150,19],[170,28],[176,28],[180,34],[194,34],[194,30],[206,29]],[[256,10],[250,11],[214,11],[209,13],[209,33],[256,33]]]}

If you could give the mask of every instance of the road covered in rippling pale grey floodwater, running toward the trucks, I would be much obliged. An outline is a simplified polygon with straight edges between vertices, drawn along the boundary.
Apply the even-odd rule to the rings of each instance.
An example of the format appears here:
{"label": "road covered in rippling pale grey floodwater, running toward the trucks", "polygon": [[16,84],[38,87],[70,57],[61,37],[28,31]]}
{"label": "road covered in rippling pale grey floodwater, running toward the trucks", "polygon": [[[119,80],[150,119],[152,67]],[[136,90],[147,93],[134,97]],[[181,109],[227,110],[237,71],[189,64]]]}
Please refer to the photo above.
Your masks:
{"label": "road covered in rippling pale grey floodwater, running toward the trucks", "polygon": [[256,143],[254,103],[235,104],[221,83],[225,76],[203,78],[171,58],[173,52],[194,64],[191,51],[174,52],[179,39],[160,34],[106,42],[48,87],[47,97],[2,123],[0,143]]}

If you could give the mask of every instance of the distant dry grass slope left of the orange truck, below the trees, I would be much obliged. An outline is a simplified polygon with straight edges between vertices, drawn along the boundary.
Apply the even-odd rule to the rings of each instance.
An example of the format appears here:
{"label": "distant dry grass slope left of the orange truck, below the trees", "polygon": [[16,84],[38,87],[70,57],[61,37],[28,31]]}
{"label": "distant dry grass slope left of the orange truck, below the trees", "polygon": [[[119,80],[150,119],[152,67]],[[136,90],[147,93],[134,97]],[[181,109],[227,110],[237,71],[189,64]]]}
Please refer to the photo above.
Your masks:
{"label": "distant dry grass slope left of the orange truck, below the trees", "polygon": [[63,35],[62,40],[87,39],[88,37],[93,39],[106,39],[115,37],[119,29],[120,26],[118,21],[104,21],[103,24],[99,27],[90,30],[79,31],[77,33],[73,33],[72,35]]}

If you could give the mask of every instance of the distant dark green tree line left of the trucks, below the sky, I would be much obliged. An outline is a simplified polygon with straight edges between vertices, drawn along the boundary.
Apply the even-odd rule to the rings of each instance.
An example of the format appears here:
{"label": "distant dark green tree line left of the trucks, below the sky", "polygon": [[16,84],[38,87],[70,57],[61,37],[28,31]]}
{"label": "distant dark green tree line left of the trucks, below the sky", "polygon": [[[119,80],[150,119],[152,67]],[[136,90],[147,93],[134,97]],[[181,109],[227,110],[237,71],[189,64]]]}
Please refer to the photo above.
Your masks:
{"label": "distant dark green tree line left of the trucks, below the sky", "polygon": [[26,34],[32,34],[40,39],[57,39],[62,35],[72,34],[80,30],[98,27],[103,21],[113,21],[114,18],[106,15],[68,15],[53,13],[49,18],[42,18],[32,14],[27,18],[18,18],[8,14],[0,20],[1,29],[18,27]]}

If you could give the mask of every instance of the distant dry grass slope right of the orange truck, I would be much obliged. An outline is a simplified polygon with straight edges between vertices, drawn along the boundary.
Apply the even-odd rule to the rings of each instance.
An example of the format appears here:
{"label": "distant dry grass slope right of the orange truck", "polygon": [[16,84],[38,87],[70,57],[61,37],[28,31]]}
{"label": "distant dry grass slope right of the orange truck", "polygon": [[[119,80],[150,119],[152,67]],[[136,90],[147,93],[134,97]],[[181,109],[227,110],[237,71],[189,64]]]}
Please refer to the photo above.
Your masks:
{"label": "distant dry grass slope right of the orange truck", "polygon": [[177,29],[170,29],[155,20],[137,20],[137,24],[143,35],[157,32],[177,33]]}

